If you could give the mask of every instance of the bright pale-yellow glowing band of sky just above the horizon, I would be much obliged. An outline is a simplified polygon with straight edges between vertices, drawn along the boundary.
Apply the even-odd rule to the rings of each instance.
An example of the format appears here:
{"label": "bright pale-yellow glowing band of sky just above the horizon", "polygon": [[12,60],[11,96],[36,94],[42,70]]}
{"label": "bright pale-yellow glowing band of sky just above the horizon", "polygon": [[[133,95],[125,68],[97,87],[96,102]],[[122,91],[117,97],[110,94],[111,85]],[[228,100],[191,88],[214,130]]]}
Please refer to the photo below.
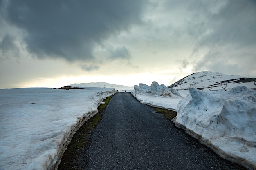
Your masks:
{"label": "bright pale-yellow glowing band of sky just above the horizon", "polygon": [[70,84],[79,83],[91,83],[91,82],[106,82],[110,84],[118,84],[124,86],[134,86],[139,83],[150,84],[153,81],[159,84],[164,84],[169,86],[178,80],[186,77],[185,74],[175,74],[175,70],[166,71],[155,71],[148,73],[138,73],[130,75],[98,75],[98,76],[62,76],[55,78],[41,78],[36,80],[31,80],[30,82],[22,82],[17,87],[14,88],[26,88],[26,87],[49,87],[58,88],[67,86]]}

